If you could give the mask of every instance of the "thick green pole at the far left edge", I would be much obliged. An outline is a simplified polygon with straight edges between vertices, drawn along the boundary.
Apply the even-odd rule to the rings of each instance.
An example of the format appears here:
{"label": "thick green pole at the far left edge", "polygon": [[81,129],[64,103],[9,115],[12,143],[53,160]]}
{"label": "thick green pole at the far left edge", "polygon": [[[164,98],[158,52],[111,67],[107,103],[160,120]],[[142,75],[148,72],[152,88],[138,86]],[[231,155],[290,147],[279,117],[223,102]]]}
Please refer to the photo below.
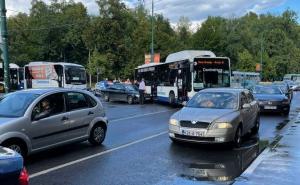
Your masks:
{"label": "thick green pole at the far left edge", "polygon": [[6,8],[5,0],[0,0],[0,26],[1,26],[1,58],[3,60],[4,68],[4,89],[5,93],[9,92],[10,88],[10,78],[9,78],[9,57],[8,57],[8,34],[7,34],[7,25],[6,25]]}

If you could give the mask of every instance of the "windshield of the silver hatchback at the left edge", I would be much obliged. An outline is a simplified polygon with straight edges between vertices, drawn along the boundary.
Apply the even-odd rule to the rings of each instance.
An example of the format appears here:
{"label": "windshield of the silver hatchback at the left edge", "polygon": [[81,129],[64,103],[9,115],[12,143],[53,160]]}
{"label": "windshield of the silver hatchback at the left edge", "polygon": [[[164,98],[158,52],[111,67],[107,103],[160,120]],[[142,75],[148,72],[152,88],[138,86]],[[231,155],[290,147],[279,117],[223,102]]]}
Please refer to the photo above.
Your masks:
{"label": "windshield of the silver hatchback at the left edge", "polygon": [[[0,98],[0,117],[21,117],[28,106],[38,97],[33,93],[12,93]],[[17,102],[17,103],[16,103]]]}

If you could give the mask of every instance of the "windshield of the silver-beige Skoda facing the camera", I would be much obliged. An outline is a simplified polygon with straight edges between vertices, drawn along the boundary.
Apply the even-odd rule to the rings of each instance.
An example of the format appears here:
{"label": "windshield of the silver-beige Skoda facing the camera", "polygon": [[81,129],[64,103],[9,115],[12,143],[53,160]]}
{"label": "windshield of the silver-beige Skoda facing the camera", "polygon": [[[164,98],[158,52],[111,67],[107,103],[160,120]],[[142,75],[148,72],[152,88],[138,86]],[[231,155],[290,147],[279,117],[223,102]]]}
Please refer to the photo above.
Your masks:
{"label": "windshield of the silver-beige Skoda facing the camera", "polygon": [[187,104],[187,107],[211,109],[236,109],[237,106],[237,95],[226,92],[201,92]]}

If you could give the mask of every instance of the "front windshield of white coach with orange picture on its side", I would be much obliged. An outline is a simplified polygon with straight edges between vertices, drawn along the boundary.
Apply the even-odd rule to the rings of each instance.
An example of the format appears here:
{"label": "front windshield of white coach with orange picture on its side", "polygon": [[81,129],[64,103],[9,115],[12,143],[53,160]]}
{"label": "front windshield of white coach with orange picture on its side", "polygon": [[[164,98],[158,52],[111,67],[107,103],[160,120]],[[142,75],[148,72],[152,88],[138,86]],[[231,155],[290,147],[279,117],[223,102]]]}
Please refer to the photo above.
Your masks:
{"label": "front windshield of white coach with orange picture on its side", "polygon": [[81,85],[86,84],[86,74],[83,67],[66,66],[66,84]]}

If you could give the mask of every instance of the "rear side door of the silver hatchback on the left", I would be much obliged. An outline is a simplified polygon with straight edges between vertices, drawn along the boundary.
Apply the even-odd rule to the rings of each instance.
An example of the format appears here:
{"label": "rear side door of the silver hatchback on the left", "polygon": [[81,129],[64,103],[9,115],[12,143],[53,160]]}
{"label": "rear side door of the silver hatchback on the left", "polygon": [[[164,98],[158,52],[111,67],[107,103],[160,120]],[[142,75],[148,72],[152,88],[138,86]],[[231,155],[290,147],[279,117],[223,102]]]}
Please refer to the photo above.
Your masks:
{"label": "rear side door of the silver hatchback on the left", "polygon": [[66,93],[69,134],[73,139],[86,136],[87,128],[95,116],[95,110],[90,107],[86,96],[81,92]]}

